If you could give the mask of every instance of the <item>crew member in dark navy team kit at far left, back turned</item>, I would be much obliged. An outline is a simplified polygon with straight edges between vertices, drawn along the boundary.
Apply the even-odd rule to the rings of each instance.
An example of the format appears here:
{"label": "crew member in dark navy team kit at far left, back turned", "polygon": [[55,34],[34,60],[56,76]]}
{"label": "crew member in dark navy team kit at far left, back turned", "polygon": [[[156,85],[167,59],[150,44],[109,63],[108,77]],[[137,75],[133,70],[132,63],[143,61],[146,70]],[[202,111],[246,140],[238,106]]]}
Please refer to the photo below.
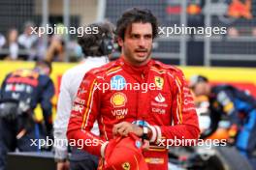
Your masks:
{"label": "crew member in dark navy team kit at far left, back turned", "polygon": [[[51,65],[39,61],[33,70],[9,73],[1,87],[0,98],[0,170],[6,166],[8,152],[39,151],[31,139],[52,136],[51,102],[54,86],[49,78]],[[45,125],[34,121],[33,110],[40,103]]]}

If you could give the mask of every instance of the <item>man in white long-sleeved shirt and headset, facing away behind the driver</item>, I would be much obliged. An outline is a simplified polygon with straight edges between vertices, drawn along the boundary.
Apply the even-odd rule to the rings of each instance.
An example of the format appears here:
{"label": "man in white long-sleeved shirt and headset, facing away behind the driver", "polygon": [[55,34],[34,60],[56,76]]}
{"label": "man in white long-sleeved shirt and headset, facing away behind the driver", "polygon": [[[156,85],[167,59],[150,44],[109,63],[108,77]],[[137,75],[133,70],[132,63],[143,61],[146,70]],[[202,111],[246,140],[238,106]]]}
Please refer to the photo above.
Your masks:
{"label": "man in white long-sleeved shirt and headset, facing away behind the driver", "polygon": [[[61,79],[60,94],[57,104],[57,117],[54,122],[54,137],[66,140],[66,131],[72,104],[76,99],[80,82],[86,71],[100,67],[109,62],[109,55],[113,50],[113,25],[110,22],[90,24],[91,29],[98,28],[98,34],[86,34],[79,39],[80,47],[84,54],[84,60],[79,66],[66,71]],[[93,28],[94,27],[94,28]],[[76,99],[79,101],[79,98]],[[99,128],[95,127],[93,133],[99,134]],[[57,170],[69,169],[67,145],[56,143],[55,160]],[[72,148],[70,157],[70,169],[93,170],[98,167],[98,158],[86,152]]]}

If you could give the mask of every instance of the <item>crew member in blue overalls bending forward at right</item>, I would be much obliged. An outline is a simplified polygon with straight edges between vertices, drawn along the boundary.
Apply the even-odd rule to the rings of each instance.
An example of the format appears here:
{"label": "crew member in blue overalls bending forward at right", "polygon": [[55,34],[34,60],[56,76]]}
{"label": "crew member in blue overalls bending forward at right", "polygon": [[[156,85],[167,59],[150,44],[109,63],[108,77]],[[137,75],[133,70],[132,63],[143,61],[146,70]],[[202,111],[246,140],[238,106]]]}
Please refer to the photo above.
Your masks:
{"label": "crew member in blue overalls bending forward at right", "polygon": [[256,148],[256,100],[231,85],[210,86],[208,78],[202,75],[192,76],[190,87],[196,97],[207,96],[210,103],[210,127],[201,137],[212,134],[221,117],[227,116],[231,122],[230,142],[235,142],[240,153],[250,158],[256,168],[256,161],[252,158]]}

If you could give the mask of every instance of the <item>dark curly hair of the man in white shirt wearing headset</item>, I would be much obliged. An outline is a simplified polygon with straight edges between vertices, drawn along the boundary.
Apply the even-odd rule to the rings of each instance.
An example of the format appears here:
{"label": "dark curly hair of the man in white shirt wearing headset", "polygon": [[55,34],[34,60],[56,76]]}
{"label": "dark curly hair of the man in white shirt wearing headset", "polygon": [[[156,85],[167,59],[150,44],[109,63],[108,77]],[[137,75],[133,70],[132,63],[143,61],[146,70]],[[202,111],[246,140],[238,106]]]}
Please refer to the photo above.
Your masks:
{"label": "dark curly hair of the man in white shirt wearing headset", "polygon": [[79,38],[81,50],[85,56],[103,56],[104,51],[101,49],[101,45],[104,39],[113,39],[114,26],[111,22],[99,22],[88,25],[91,30],[98,28],[97,34],[84,34]]}

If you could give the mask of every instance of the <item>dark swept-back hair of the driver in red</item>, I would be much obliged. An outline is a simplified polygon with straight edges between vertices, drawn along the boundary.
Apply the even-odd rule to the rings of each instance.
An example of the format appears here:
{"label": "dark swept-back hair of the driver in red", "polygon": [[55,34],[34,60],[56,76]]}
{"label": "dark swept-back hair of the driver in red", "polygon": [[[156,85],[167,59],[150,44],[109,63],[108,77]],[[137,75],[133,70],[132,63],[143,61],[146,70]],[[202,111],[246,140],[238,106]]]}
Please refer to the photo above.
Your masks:
{"label": "dark swept-back hair of the driver in red", "polygon": [[143,22],[151,23],[153,39],[157,37],[158,23],[157,18],[147,9],[133,8],[124,12],[117,20],[115,34],[118,38],[124,40],[124,34],[132,23]]}

